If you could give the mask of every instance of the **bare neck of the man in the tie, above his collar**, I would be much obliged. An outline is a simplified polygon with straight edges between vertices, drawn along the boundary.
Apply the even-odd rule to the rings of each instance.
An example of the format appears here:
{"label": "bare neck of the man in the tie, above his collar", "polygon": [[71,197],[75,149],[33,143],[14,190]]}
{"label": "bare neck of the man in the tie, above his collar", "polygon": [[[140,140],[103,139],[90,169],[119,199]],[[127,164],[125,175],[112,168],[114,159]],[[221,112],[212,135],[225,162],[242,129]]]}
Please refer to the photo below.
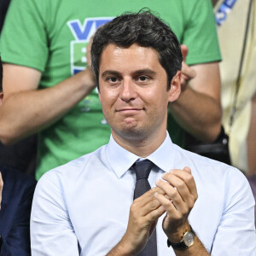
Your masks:
{"label": "bare neck of the man in the tie, above his collar", "polygon": [[122,148],[136,154],[139,157],[145,158],[152,154],[166,139],[166,130],[160,132],[158,135],[150,137],[120,137],[112,131],[113,139]]}

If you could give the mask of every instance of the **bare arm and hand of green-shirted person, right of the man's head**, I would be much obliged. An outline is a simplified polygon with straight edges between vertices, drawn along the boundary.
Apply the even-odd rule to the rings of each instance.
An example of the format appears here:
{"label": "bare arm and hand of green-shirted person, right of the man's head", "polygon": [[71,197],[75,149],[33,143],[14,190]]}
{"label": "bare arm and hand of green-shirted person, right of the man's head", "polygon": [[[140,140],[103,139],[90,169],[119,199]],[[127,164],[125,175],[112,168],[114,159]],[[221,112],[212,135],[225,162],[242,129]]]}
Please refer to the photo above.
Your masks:
{"label": "bare arm and hand of green-shirted person, right of the man's head", "polygon": [[221,128],[218,62],[186,65],[188,48],[182,45],[182,93],[170,104],[177,123],[203,142],[213,142]]}

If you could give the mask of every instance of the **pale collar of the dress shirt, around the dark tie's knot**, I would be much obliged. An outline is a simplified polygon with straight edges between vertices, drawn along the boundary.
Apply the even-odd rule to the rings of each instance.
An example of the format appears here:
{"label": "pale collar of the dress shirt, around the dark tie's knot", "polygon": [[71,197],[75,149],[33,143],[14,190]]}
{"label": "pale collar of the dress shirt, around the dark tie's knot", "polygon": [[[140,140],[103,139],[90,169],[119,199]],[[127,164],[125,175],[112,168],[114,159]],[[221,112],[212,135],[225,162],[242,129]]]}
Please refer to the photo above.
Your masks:
{"label": "pale collar of the dress shirt, around the dark tie's knot", "polygon": [[[116,143],[111,135],[106,154],[109,164],[118,177],[127,172],[133,163],[139,159],[139,156],[132,154],[130,151],[122,148]],[[174,166],[175,151],[171,137],[166,131],[166,139],[152,154],[146,159],[151,160],[154,165],[158,166],[164,172],[170,172]]]}

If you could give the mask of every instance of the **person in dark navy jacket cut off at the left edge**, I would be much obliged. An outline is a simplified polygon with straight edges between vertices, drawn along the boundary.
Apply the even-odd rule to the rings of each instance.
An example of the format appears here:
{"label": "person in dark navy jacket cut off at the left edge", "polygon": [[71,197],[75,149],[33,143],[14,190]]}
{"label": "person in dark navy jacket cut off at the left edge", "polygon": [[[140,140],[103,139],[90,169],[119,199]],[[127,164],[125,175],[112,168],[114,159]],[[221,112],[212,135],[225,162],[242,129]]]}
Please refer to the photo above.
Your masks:
{"label": "person in dark navy jacket cut off at the left edge", "polygon": [[[2,79],[0,58],[0,106]],[[0,255],[31,255],[29,222],[36,181],[1,165],[0,172]]]}

